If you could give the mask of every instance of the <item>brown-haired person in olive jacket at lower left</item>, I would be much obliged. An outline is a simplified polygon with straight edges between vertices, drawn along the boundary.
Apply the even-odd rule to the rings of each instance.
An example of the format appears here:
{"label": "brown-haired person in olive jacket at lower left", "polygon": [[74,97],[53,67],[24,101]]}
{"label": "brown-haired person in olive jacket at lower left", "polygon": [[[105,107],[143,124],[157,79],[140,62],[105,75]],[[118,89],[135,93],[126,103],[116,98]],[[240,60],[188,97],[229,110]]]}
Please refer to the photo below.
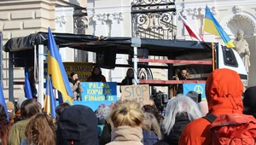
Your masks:
{"label": "brown-haired person in olive jacket at lower left", "polygon": [[20,115],[21,121],[17,122],[9,131],[8,144],[20,145],[22,139],[26,138],[26,125],[31,120],[32,116],[41,113],[41,107],[35,99],[27,99],[21,104]]}

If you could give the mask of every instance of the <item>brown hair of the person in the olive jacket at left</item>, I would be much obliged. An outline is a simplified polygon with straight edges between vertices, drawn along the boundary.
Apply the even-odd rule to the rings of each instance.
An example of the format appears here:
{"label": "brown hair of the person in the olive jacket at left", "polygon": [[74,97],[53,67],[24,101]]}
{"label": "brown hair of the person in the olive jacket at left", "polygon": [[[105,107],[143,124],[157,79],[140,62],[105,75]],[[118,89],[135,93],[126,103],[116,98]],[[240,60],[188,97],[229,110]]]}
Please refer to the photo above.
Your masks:
{"label": "brown hair of the person in the olive jacket at left", "polygon": [[20,107],[20,116],[22,119],[30,119],[37,113],[41,113],[41,108],[35,99],[27,99],[22,102]]}

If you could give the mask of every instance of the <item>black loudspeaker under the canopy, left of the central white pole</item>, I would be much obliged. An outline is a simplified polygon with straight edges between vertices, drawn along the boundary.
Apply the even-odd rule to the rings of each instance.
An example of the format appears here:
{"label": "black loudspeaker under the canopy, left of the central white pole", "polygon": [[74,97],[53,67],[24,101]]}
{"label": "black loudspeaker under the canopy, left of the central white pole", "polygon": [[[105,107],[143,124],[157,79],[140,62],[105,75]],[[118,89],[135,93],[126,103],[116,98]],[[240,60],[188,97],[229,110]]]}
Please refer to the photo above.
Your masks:
{"label": "black loudspeaker under the canopy, left of the central white pole", "polygon": [[96,52],[96,64],[102,68],[113,69],[116,60],[116,47],[104,47]]}

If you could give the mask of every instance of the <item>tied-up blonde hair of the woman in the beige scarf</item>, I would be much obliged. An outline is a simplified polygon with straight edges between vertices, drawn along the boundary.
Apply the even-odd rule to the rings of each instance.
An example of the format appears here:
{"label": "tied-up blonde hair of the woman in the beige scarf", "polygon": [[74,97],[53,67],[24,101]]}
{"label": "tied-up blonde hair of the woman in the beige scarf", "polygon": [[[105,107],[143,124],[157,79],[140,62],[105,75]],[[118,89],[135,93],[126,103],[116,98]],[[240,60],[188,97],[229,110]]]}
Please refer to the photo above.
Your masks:
{"label": "tied-up blonde hair of the woman in the beige scarf", "polygon": [[144,115],[140,103],[131,100],[118,101],[114,104],[110,113],[109,122],[112,127],[119,126],[140,126],[143,123]]}

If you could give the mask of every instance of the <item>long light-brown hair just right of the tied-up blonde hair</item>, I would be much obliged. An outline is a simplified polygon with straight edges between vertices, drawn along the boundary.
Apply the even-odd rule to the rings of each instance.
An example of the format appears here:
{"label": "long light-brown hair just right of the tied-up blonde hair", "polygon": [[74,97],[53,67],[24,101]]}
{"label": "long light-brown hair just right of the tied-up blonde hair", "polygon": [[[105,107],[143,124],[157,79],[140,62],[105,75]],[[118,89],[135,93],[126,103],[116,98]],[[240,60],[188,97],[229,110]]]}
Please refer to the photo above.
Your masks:
{"label": "long light-brown hair just right of the tied-up blonde hair", "polygon": [[159,140],[162,139],[160,125],[153,113],[144,113],[143,130],[153,131]]}

